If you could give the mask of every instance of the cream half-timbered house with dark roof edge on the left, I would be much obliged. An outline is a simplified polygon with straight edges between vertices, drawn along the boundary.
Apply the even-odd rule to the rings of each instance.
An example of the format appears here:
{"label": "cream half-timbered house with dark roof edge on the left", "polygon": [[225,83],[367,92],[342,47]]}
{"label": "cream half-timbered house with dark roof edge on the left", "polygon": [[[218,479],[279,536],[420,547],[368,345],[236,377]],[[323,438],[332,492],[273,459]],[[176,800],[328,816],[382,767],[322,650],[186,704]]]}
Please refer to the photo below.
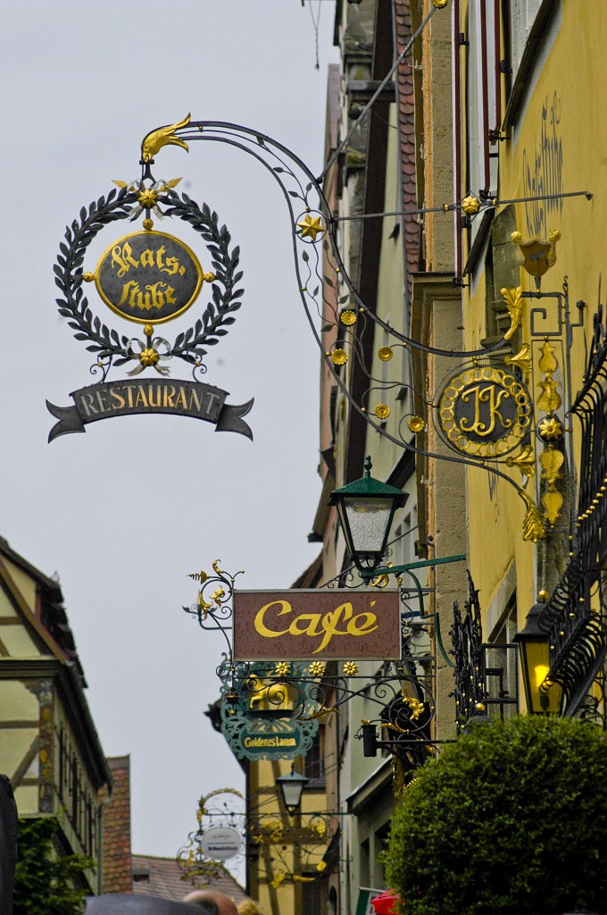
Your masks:
{"label": "cream half-timbered house with dark roof edge on the left", "polygon": [[[20,817],[55,817],[62,854],[101,854],[110,780],[57,582],[0,542],[0,759]],[[97,867],[87,888],[99,889]]]}

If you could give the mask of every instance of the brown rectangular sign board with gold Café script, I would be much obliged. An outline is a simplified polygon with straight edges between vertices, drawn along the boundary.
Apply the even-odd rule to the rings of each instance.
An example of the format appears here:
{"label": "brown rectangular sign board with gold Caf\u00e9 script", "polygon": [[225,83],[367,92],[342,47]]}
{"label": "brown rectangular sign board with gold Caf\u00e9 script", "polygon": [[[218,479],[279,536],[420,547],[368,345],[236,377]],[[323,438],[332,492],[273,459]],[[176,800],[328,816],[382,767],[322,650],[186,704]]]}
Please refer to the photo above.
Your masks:
{"label": "brown rectangular sign board with gold Caf\u00e9 script", "polygon": [[400,658],[397,591],[235,591],[234,660]]}

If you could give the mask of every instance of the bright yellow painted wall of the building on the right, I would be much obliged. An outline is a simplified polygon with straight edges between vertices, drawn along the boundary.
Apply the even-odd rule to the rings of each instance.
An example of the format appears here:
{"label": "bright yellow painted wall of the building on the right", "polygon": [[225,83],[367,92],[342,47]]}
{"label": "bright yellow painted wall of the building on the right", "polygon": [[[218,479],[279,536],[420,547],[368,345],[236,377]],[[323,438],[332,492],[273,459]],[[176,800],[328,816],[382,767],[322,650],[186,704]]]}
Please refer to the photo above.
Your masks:
{"label": "bright yellow painted wall of the building on the right", "polygon": [[[534,234],[542,238],[559,230],[557,263],[542,277],[542,292],[562,291],[568,277],[571,320],[578,320],[576,302],[583,300],[585,334],[591,339],[591,321],[598,306],[601,275],[607,269],[604,214],[607,204],[605,148],[607,124],[599,116],[607,78],[604,37],[607,34],[607,5],[565,3],[559,5],[538,50],[538,66],[527,86],[527,94],[516,123],[507,130],[509,139],[498,145],[498,199],[537,197],[547,193],[591,192],[562,200],[516,203],[516,229],[526,241]],[[465,4],[463,5],[465,22]],[[504,92],[504,81],[502,81]],[[463,92],[465,98],[465,92]],[[506,99],[504,99],[506,102]],[[474,191],[474,188],[473,188]],[[498,208],[498,212],[501,208]],[[466,349],[478,347],[486,336],[485,276],[481,266],[470,277],[464,295]],[[534,279],[521,270],[524,291],[536,288]],[[603,284],[603,299],[605,285]],[[528,312],[544,302],[527,300],[521,342],[530,342]],[[554,328],[555,319],[551,319]],[[559,358],[559,354],[557,354]],[[538,354],[536,353],[536,368]],[[584,333],[573,333],[570,350],[572,393],[580,388],[584,371]],[[559,361],[562,360],[559,358]],[[561,364],[560,371],[563,371]],[[537,371],[536,382],[541,375]],[[561,377],[561,376],[559,376]],[[529,384],[531,382],[529,381]],[[537,401],[540,390],[530,390]],[[563,394],[562,387],[559,393]],[[560,411],[564,414],[566,407]],[[538,414],[540,417],[541,413]],[[576,421],[577,423],[577,421]],[[574,455],[578,459],[579,428],[574,423]],[[531,437],[532,444],[538,442]],[[517,483],[516,470],[508,471]],[[538,468],[541,470],[541,468]],[[506,481],[495,479],[484,469],[470,469],[468,478],[468,526],[470,566],[476,587],[481,589],[483,607],[494,600],[502,583],[516,568],[518,626],[522,628],[528,609],[537,600],[536,556],[538,547],[522,540],[523,502]],[[535,498],[532,480],[527,492]],[[541,506],[540,506],[541,508]],[[543,511],[543,509],[542,509]],[[539,547],[541,549],[541,547]],[[490,633],[485,631],[485,638]]]}

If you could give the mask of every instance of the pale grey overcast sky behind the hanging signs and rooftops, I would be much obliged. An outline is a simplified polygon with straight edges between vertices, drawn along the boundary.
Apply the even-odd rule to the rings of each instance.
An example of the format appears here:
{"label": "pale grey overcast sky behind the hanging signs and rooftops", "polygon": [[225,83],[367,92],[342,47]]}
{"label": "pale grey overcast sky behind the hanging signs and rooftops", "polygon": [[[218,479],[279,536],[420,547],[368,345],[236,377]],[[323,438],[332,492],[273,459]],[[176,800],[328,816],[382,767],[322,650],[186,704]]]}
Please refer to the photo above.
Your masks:
{"label": "pale grey overcast sky behind the hanging signs and rooftops", "polygon": [[[288,587],[313,561],[319,355],[278,185],[225,145],[166,148],[156,177],[183,176],[179,189],[217,210],[240,244],[243,306],[205,381],[229,391],[230,404],[255,398],[254,441],[192,419],[133,416],[48,445],[46,399],[67,406],[69,392],[94,382],[91,354],[57,312],[53,263],[80,207],[112,178],[138,177],[144,135],[188,112],[270,135],[318,174],[335,3],[312,0],[320,70],[310,0],[2,6],[0,533],[59,574],[101,744],[108,756],[131,755],[133,851],[173,856],[196,826],[198,797],[242,787],[203,716],[222,649],[181,609],[197,593],[186,576],[219,558],[246,570],[243,587]],[[103,247],[118,228],[101,234]],[[208,269],[204,245],[197,253]],[[133,331],[87,293],[102,320]],[[183,326],[165,325],[166,336],[205,304],[201,296]],[[189,377],[185,364],[171,369]]]}

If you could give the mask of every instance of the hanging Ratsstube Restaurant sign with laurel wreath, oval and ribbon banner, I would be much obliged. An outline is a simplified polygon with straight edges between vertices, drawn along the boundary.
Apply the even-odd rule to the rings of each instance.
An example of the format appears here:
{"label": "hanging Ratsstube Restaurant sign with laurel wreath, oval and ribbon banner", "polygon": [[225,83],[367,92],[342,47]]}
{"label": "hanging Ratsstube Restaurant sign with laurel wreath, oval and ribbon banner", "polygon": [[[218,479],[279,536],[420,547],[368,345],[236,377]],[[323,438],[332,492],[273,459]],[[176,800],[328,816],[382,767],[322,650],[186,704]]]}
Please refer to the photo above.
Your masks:
{"label": "hanging Ratsstube Restaurant sign with laurel wreath, oval and ribbon banner", "polygon": [[[234,323],[233,313],[240,308],[244,290],[238,288],[240,251],[231,248],[226,226],[220,226],[218,215],[205,203],[199,207],[176,190],[179,179],[155,181],[151,163],[144,156],[141,180],[116,182],[120,190],[93,201],[80,210],[59,245],[55,265],[55,282],[61,297],[59,314],[68,318],[76,339],[87,344],[95,354],[92,374],[101,374],[101,383],[80,388],[70,394],[73,406],[48,405],[59,419],[48,436],[52,441],[69,432],[84,432],[85,426],[112,416],[162,413],[192,416],[213,423],[216,431],[239,432],[252,438],[249,425],[242,419],[253,401],[240,406],[226,404],[228,392],[204,384],[199,376],[207,371],[204,357],[208,347],[215,346]],[[161,209],[162,208],[162,209]],[[205,271],[197,254],[176,236],[154,230],[152,213],[159,218],[184,220],[206,243],[212,271]],[[89,246],[97,234],[111,222],[144,216],[143,228],[114,239],[101,255],[95,270],[85,270]],[[93,283],[101,300],[115,315],[144,325],[143,339],[133,338],[109,328],[95,316],[83,285]],[[194,305],[203,285],[210,292],[202,316],[190,328],[170,342],[156,335],[154,326],[184,315]],[[180,359],[192,367],[194,380],[165,381],[169,374],[164,364]],[[130,364],[129,379],[106,381],[114,367]],[[162,376],[134,381],[133,376],[145,370]]]}

